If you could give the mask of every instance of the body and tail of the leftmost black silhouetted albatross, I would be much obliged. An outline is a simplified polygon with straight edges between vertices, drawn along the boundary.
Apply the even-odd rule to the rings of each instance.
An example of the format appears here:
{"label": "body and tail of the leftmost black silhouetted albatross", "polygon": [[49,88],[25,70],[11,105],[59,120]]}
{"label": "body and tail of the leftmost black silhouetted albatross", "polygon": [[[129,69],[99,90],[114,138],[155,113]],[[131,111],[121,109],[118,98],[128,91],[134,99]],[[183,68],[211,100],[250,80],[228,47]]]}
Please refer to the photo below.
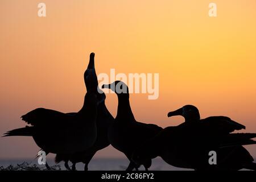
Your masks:
{"label": "body and tail of the leftmost black silhouetted albatross", "polygon": [[82,109],[74,115],[38,108],[22,116],[32,126],[8,131],[7,136],[31,136],[46,152],[70,154],[92,147],[96,141],[97,99],[86,93]]}

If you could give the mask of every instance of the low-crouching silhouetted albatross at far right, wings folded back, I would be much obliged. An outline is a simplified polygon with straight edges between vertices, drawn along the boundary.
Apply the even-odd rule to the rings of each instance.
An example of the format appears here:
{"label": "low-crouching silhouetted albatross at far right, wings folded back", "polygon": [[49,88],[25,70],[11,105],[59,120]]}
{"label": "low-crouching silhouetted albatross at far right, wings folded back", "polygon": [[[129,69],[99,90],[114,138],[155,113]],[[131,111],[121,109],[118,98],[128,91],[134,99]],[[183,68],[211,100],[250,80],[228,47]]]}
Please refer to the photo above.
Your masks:
{"label": "low-crouching silhouetted albatross at far right, wings folded back", "polygon": [[[227,164],[225,160],[228,159],[225,159],[225,155],[233,155],[229,153],[229,147],[237,147],[237,152],[243,154],[245,151],[240,147],[241,145],[256,143],[251,139],[256,137],[254,133],[230,134],[234,130],[245,128],[240,123],[234,122],[228,117],[209,117],[198,120],[200,115],[195,114],[196,110],[195,113],[187,112],[191,108],[191,106],[184,107],[169,113],[168,117],[180,114],[187,120],[178,126],[166,127],[156,137],[145,142],[134,152],[133,161],[143,163],[148,158],[153,159],[160,156],[165,162],[175,167],[196,170],[228,169],[226,166],[210,165],[209,152],[218,152],[220,148],[223,148],[220,156],[217,153],[217,159],[223,159],[222,164]],[[189,115],[197,120],[190,120]],[[251,161],[249,155],[243,155],[242,158],[245,159],[238,160]],[[234,162],[233,164],[236,165]],[[252,162],[244,165],[243,167],[255,169],[255,164]],[[237,166],[234,166],[234,169],[237,169]]]}

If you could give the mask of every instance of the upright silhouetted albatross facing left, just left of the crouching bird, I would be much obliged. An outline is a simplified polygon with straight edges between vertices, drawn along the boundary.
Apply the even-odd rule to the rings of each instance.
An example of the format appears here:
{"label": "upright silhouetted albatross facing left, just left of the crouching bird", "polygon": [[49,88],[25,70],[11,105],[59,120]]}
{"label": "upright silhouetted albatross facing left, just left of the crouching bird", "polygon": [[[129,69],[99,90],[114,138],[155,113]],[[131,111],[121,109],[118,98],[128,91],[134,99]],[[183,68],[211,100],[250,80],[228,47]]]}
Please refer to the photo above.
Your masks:
{"label": "upright silhouetted albatross facing left, just left of the crouching bird", "polygon": [[118,97],[117,116],[109,129],[110,143],[130,160],[127,170],[138,168],[140,165],[143,165],[147,170],[151,166],[150,158],[137,166],[131,161],[131,156],[135,148],[154,137],[159,131],[162,131],[162,128],[135,120],[129,102],[129,89],[125,83],[115,81],[109,85],[102,85],[102,88],[112,89]]}

